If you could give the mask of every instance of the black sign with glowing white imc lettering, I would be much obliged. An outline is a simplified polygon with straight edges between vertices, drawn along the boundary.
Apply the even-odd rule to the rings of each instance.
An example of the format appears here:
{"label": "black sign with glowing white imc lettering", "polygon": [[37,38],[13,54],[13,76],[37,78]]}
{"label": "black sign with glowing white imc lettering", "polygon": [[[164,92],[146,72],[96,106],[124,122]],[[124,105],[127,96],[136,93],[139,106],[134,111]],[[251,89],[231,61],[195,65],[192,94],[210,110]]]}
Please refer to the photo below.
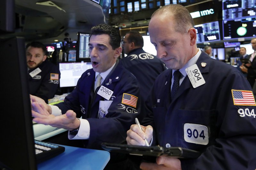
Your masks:
{"label": "black sign with glowing white imc lettering", "polygon": [[222,20],[222,2],[207,1],[196,5],[186,6],[195,25]]}

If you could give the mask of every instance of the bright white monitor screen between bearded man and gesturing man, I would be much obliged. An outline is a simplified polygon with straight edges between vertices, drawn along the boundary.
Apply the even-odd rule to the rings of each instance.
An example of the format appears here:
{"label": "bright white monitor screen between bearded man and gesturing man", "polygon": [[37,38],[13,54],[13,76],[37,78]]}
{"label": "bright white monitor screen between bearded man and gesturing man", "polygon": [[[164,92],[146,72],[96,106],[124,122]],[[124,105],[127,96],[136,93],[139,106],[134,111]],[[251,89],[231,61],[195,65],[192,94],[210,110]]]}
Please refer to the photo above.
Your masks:
{"label": "bright white monitor screen between bearded man and gesturing man", "polygon": [[75,87],[78,79],[88,69],[92,68],[90,62],[59,63],[60,87]]}

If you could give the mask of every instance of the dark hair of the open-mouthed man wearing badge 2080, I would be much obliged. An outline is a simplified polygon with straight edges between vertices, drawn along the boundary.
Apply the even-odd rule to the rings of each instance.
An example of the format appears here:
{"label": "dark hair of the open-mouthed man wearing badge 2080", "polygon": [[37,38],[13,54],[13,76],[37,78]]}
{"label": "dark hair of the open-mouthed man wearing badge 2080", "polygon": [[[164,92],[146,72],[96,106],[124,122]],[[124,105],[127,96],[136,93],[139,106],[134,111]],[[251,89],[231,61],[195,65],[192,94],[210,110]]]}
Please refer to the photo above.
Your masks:
{"label": "dark hair of the open-mouthed man wearing badge 2080", "polygon": [[101,35],[101,34],[108,34],[110,37],[109,44],[111,45],[112,49],[116,49],[120,47],[121,44],[121,36],[119,31],[107,24],[99,24],[97,26],[93,26],[91,29],[91,35],[89,37],[89,40],[92,35]]}

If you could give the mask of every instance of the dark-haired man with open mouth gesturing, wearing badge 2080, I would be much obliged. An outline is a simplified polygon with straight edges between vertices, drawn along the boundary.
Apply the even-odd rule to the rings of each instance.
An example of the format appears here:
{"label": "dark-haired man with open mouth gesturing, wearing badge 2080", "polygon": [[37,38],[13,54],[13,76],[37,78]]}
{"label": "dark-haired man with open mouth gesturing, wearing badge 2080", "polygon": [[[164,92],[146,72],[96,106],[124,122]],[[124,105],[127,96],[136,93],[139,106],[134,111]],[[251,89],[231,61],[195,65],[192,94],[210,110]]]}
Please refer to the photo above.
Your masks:
{"label": "dark-haired man with open mouth gesturing, wearing badge 2080", "polygon": [[126,131],[140,116],[141,97],[136,78],[118,63],[120,43],[119,31],[112,26],[93,26],[89,39],[93,68],[83,73],[62,103],[49,106],[31,96],[33,120],[68,129],[68,138],[82,139],[86,148],[125,142]]}

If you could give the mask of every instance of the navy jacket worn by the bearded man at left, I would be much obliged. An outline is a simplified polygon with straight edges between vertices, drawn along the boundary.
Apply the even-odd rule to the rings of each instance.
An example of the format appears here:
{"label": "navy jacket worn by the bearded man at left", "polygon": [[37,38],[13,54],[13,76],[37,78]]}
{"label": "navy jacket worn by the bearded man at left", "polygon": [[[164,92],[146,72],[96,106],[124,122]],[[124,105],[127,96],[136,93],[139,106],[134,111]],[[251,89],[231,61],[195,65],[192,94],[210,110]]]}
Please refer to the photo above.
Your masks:
{"label": "navy jacket worn by the bearded man at left", "polygon": [[[42,71],[32,78],[29,73],[37,68]],[[28,71],[29,94],[40,97],[48,103],[48,99],[54,97],[59,87],[60,70],[58,66],[47,60],[37,68]]]}

